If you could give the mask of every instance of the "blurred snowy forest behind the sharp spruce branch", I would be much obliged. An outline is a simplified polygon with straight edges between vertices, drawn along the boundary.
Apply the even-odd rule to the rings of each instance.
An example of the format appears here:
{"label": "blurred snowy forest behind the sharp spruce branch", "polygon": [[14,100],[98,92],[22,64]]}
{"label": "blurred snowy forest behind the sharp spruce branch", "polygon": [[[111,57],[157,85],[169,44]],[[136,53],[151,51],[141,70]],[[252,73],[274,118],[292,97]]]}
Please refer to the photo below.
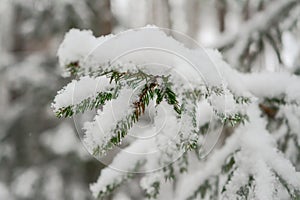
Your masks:
{"label": "blurred snowy forest behind the sharp spruce branch", "polygon": [[56,51],[70,28],[155,24],[218,48],[240,71],[299,74],[299,19],[297,0],[0,0],[0,199],[92,199],[103,166],[51,110],[69,81]]}

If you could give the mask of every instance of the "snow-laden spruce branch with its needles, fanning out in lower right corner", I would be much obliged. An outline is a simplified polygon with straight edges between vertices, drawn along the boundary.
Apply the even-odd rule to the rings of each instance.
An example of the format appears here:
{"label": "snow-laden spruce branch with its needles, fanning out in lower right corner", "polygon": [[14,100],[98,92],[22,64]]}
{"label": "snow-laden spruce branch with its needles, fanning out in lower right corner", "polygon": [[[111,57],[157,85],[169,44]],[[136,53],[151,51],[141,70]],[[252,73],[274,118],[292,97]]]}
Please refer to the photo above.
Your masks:
{"label": "snow-laden spruce branch with its needles, fanning out in lower right corner", "polygon": [[[203,188],[203,184],[207,184],[205,180],[210,180],[214,176],[217,176],[219,184],[223,185],[221,194],[224,199],[236,199],[239,196],[277,199],[281,195],[282,188],[288,191],[290,198],[299,197],[300,173],[296,172],[291,163],[276,150],[275,141],[265,128],[266,121],[259,116],[260,112],[256,107],[251,107],[248,113],[250,122],[239,127],[228,139],[228,143],[214,153],[211,160],[208,160],[206,165],[208,168],[185,180],[194,180],[193,187],[186,188],[187,184],[183,182],[179,191],[184,193],[179,199],[196,199],[204,189],[206,191],[204,194],[209,196],[214,192],[212,189],[214,186],[207,185]],[[228,147],[231,148],[229,151]],[[232,152],[233,154],[230,154]],[[224,171],[223,168],[222,171],[229,174],[226,181],[222,181],[222,168],[212,169],[209,163],[222,166],[221,163],[227,156],[230,162],[226,165],[227,169]],[[222,159],[219,163],[221,165],[217,164],[215,158]],[[195,179],[195,176],[198,178]],[[193,196],[190,196],[191,194]]]}

